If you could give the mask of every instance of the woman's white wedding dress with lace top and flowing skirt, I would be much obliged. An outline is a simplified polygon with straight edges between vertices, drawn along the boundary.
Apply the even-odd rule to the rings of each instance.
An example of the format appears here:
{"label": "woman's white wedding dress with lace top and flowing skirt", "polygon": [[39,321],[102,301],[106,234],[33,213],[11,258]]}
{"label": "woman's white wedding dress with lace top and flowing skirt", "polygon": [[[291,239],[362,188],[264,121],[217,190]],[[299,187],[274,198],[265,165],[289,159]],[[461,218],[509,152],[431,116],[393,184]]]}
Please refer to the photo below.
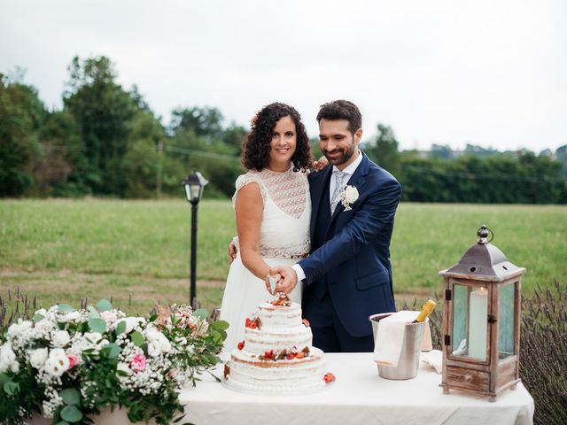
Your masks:
{"label": "woman's white wedding dress with lace top and flowing skirt", "polygon": [[[249,171],[237,178],[233,205],[238,190],[246,184],[258,183],[264,203],[260,225],[260,255],[269,266],[291,266],[307,256],[310,249],[309,221],[311,199],[307,173],[285,173],[268,169]],[[291,300],[301,302],[301,285],[290,294]],[[252,318],[258,305],[274,297],[266,290],[263,280],[243,265],[240,251],[230,265],[221,305],[221,320],[229,322],[228,337],[223,352],[233,350],[245,339],[245,320]]]}

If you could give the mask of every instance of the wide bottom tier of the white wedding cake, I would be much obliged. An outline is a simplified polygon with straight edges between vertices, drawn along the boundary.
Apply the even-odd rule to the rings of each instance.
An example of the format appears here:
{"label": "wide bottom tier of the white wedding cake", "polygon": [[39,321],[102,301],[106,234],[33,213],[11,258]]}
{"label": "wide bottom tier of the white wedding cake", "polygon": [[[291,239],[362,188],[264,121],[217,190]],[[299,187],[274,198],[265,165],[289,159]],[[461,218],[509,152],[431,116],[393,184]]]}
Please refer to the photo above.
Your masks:
{"label": "wide bottom tier of the white wedding cake", "polygon": [[323,352],[311,348],[303,359],[260,360],[245,351],[230,355],[230,372],[224,383],[231,389],[254,393],[298,393],[324,388]]}

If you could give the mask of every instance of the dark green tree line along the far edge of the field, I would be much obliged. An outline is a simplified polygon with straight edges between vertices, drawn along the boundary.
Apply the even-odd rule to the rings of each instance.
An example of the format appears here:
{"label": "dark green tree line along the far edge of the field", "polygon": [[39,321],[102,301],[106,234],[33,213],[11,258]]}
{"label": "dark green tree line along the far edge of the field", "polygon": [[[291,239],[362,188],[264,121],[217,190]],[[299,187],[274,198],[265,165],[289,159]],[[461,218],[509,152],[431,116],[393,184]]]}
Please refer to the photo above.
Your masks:
{"label": "dark green tree line along the far edge of the field", "polygon": [[[75,57],[68,72],[61,110],[46,108],[21,73],[0,73],[0,197],[179,197],[194,168],[210,182],[206,197],[232,196],[246,128],[208,106],[177,108],[163,124],[104,56]],[[567,146],[400,151],[378,124],[361,147],[400,180],[404,201],[567,204]]]}

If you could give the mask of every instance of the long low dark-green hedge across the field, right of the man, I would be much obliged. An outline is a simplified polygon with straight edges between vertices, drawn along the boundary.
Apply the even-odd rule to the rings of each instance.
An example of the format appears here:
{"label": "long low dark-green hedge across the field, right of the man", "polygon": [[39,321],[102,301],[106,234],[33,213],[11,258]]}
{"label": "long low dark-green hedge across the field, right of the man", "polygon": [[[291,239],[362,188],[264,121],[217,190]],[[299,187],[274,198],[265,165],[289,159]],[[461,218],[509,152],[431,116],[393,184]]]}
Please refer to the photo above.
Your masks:
{"label": "long low dark-green hedge across the field, right of the man", "polygon": [[450,160],[408,152],[398,178],[402,199],[412,202],[563,204],[567,192],[561,164],[532,152]]}

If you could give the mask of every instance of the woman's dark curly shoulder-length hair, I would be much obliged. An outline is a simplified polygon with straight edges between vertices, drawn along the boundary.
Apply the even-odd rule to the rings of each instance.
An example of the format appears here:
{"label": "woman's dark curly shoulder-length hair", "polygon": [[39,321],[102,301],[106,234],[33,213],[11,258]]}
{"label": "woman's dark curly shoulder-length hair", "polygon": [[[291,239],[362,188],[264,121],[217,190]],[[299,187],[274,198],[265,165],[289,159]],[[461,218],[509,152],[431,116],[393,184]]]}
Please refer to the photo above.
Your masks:
{"label": "woman's dark curly shoulder-length hair", "polygon": [[295,123],[297,145],[291,156],[293,171],[307,171],[313,166],[309,138],[301,115],[289,104],[276,102],[264,106],[251,121],[252,130],[242,144],[242,163],[248,170],[262,171],[269,164],[270,143],[276,122],[283,117],[291,117]]}

